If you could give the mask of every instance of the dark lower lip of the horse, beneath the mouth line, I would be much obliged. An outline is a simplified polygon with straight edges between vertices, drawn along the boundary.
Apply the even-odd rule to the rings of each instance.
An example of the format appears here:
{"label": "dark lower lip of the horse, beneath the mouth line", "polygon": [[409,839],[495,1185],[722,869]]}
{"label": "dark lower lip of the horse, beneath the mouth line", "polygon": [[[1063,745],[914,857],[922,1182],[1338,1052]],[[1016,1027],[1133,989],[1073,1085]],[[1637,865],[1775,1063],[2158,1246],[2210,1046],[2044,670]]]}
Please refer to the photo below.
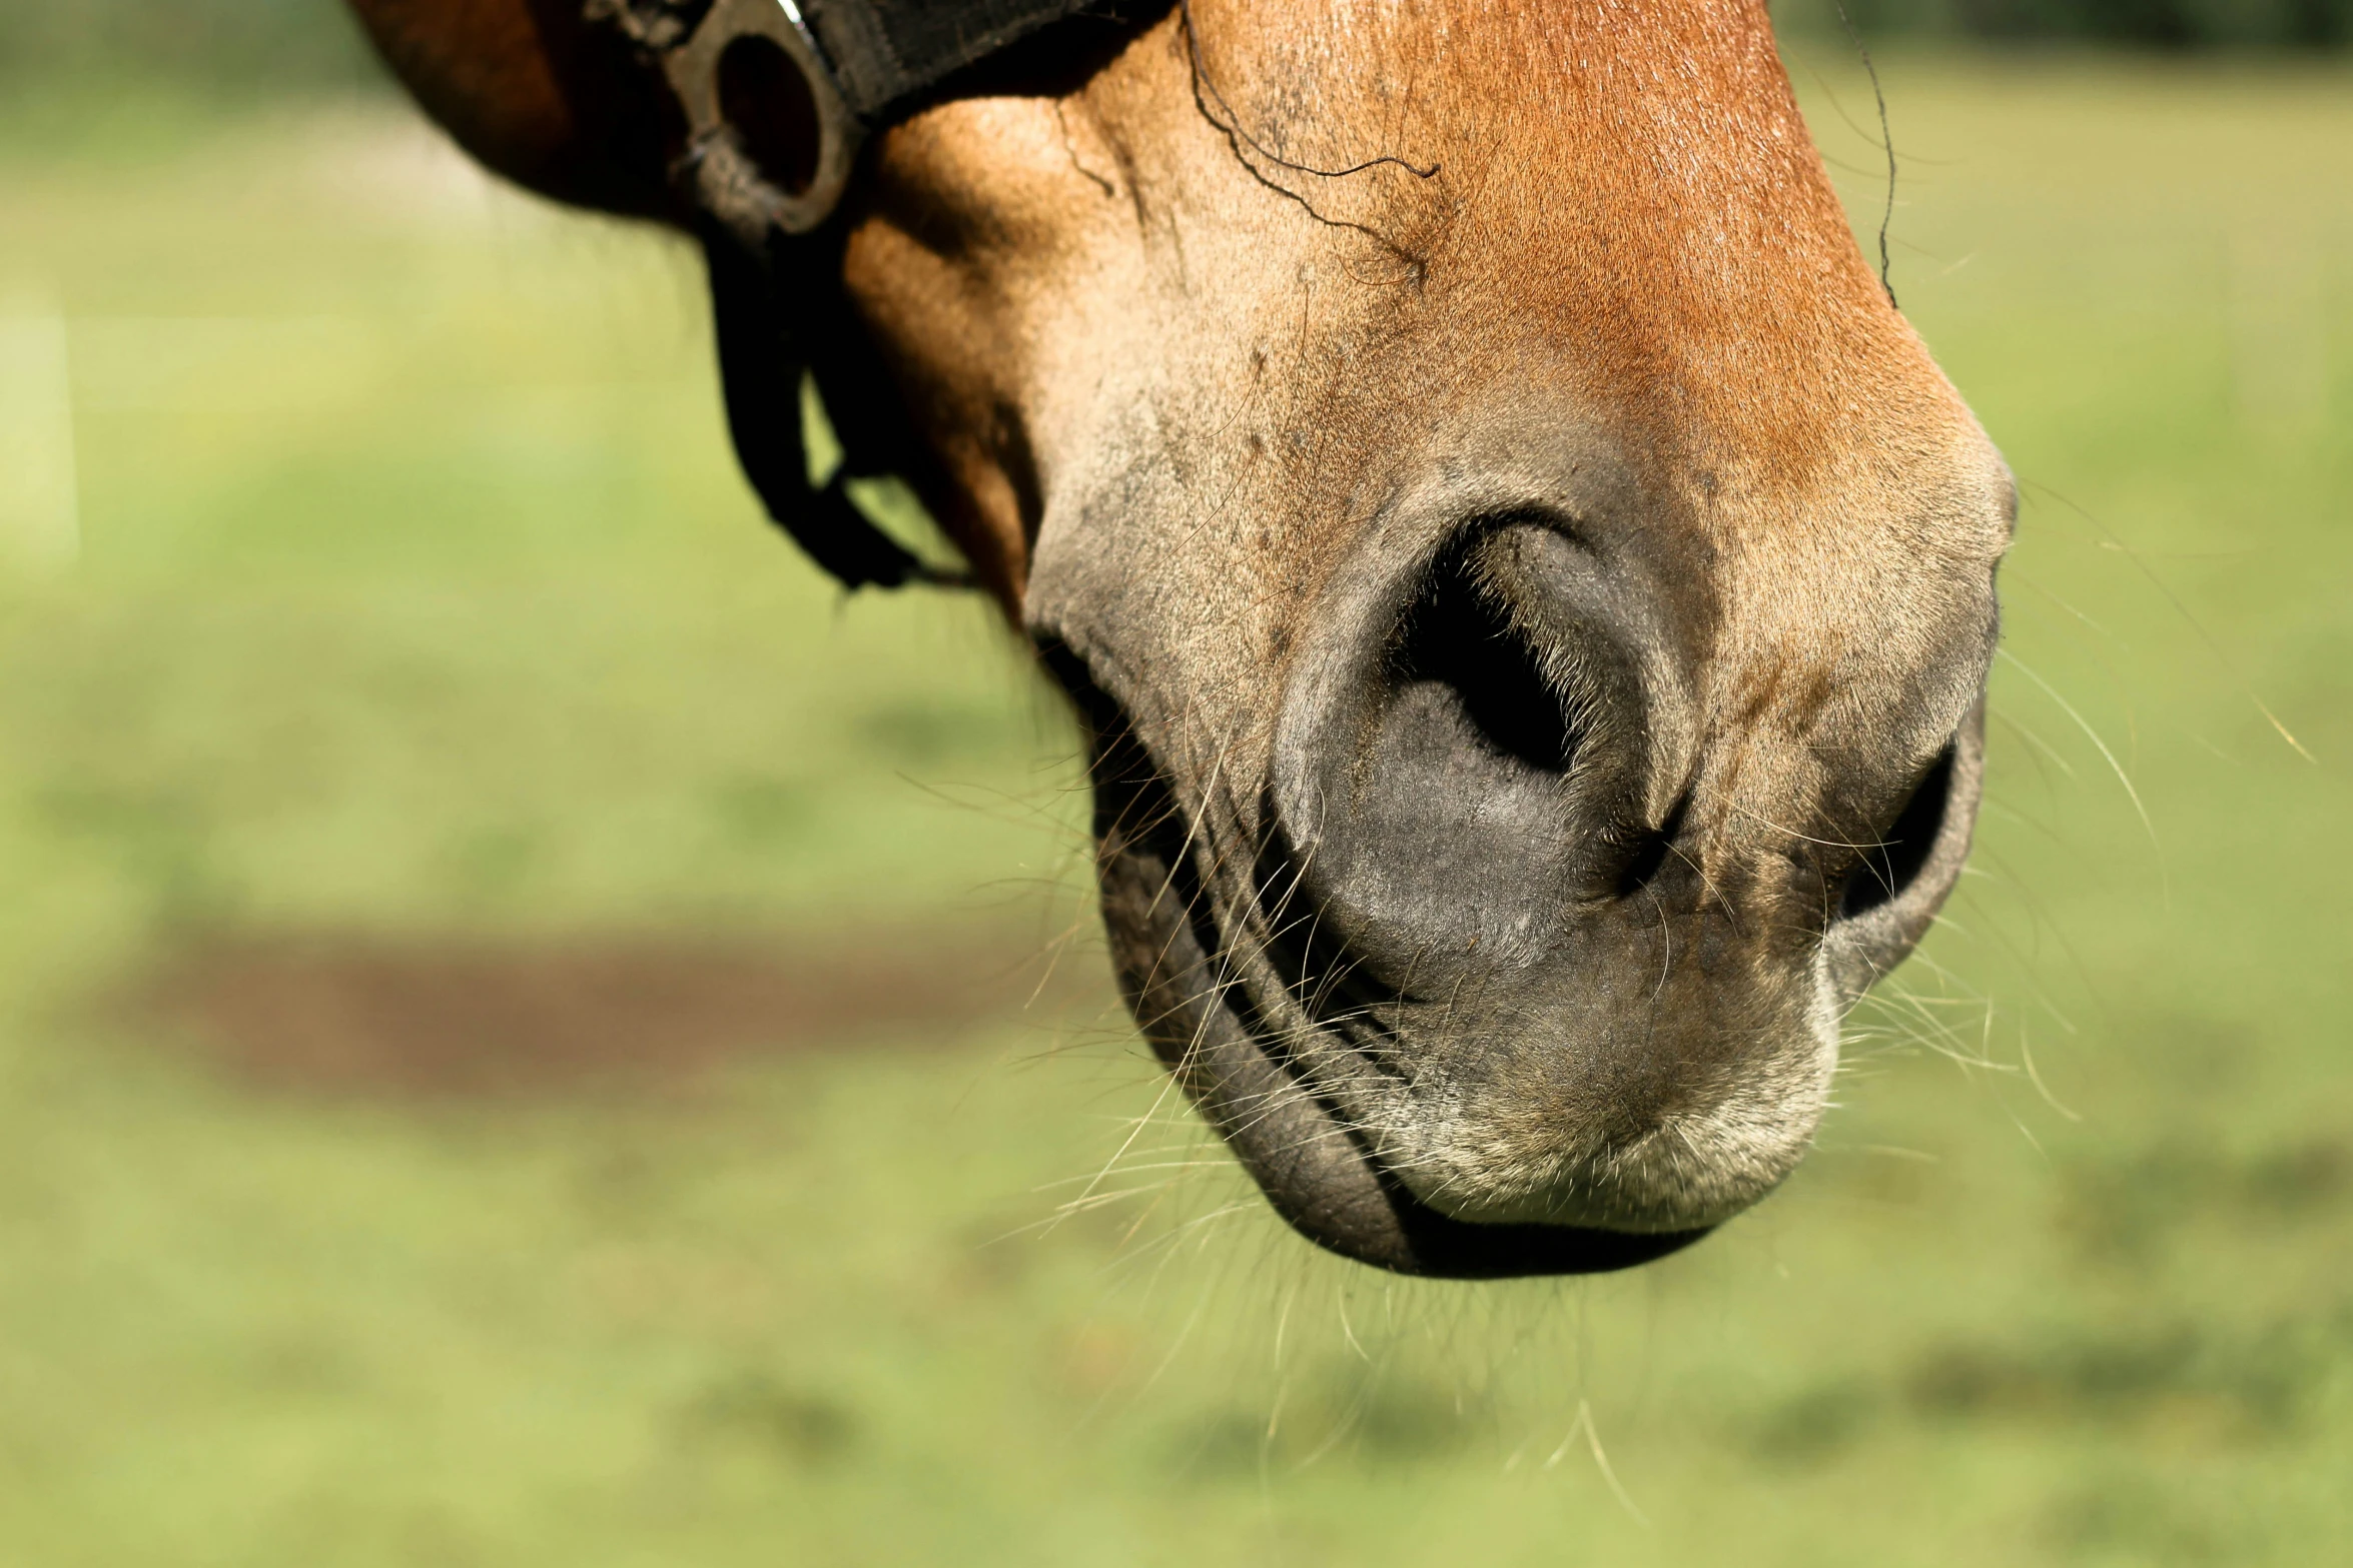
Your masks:
{"label": "dark lower lip of the horse, beneath the mouth line", "polygon": [[[1125,708],[1064,646],[1047,663],[1092,729],[1104,926],[1153,1051],[1292,1229],[1355,1262],[1428,1279],[1605,1274],[1706,1234],[1457,1220],[1417,1199],[1221,976],[1224,938],[1193,884],[1191,813]],[[1139,827],[1141,825],[1141,827]]]}

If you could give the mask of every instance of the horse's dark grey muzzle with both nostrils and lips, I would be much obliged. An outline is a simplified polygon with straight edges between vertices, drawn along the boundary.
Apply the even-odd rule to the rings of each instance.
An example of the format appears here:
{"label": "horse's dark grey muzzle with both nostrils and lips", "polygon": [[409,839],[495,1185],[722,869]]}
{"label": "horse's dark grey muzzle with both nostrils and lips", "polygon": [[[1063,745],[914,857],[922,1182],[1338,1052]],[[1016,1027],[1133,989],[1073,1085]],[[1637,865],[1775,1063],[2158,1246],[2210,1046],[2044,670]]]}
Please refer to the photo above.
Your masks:
{"label": "horse's dark grey muzzle with both nostrils and lips", "polygon": [[1974,820],[1974,705],[1925,762],[1722,741],[1694,531],[1562,468],[1379,510],[1254,797],[1188,797],[1064,670],[1136,1018],[1294,1227],[1395,1272],[1626,1267],[1765,1197]]}

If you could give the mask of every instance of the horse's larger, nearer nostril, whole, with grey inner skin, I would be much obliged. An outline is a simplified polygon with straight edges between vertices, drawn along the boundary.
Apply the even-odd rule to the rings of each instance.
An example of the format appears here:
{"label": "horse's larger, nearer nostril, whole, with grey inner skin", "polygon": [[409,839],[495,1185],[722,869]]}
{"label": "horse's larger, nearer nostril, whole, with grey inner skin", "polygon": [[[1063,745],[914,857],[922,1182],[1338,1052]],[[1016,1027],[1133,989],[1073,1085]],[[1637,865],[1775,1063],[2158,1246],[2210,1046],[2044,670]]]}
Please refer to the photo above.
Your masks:
{"label": "horse's larger, nearer nostril, whole, with grey inner skin", "polygon": [[1377,567],[1285,693],[1271,816],[1351,973],[1438,994],[1541,964],[1574,910],[1673,863],[1659,595],[1551,512],[1478,512]]}

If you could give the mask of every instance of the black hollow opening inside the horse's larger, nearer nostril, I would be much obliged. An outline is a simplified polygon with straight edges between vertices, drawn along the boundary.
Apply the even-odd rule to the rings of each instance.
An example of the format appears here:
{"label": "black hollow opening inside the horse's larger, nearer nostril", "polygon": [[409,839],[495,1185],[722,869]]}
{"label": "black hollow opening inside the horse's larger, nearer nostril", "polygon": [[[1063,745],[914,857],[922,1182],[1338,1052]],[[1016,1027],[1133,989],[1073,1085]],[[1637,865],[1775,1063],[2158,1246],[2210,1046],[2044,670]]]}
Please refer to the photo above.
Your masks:
{"label": "black hollow opening inside the horse's larger, nearer nostril", "polygon": [[1442,686],[1471,729],[1501,757],[1565,773],[1577,757],[1569,705],[1544,675],[1544,656],[1513,623],[1478,569],[1480,536],[1447,550],[1405,611],[1388,656],[1400,691]]}

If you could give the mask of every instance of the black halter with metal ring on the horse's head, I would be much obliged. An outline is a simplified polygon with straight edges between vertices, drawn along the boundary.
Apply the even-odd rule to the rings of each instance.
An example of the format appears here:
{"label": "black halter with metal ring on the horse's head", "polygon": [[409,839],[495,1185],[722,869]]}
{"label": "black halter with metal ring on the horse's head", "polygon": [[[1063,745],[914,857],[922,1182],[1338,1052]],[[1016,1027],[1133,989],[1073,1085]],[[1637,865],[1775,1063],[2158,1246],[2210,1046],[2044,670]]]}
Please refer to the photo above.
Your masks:
{"label": "black halter with metal ring on the horse's head", "polygon": [[[736,458],[767,515],[842,588],[972,585],[809,482],[800,381],[840,259],[831,223],[868,134],[958,78],[1104,0],[584,0],[656,63],[687,118],[678,160],[711,263],[720,383]],[[812,150],[814,148],[814,150]]]}

